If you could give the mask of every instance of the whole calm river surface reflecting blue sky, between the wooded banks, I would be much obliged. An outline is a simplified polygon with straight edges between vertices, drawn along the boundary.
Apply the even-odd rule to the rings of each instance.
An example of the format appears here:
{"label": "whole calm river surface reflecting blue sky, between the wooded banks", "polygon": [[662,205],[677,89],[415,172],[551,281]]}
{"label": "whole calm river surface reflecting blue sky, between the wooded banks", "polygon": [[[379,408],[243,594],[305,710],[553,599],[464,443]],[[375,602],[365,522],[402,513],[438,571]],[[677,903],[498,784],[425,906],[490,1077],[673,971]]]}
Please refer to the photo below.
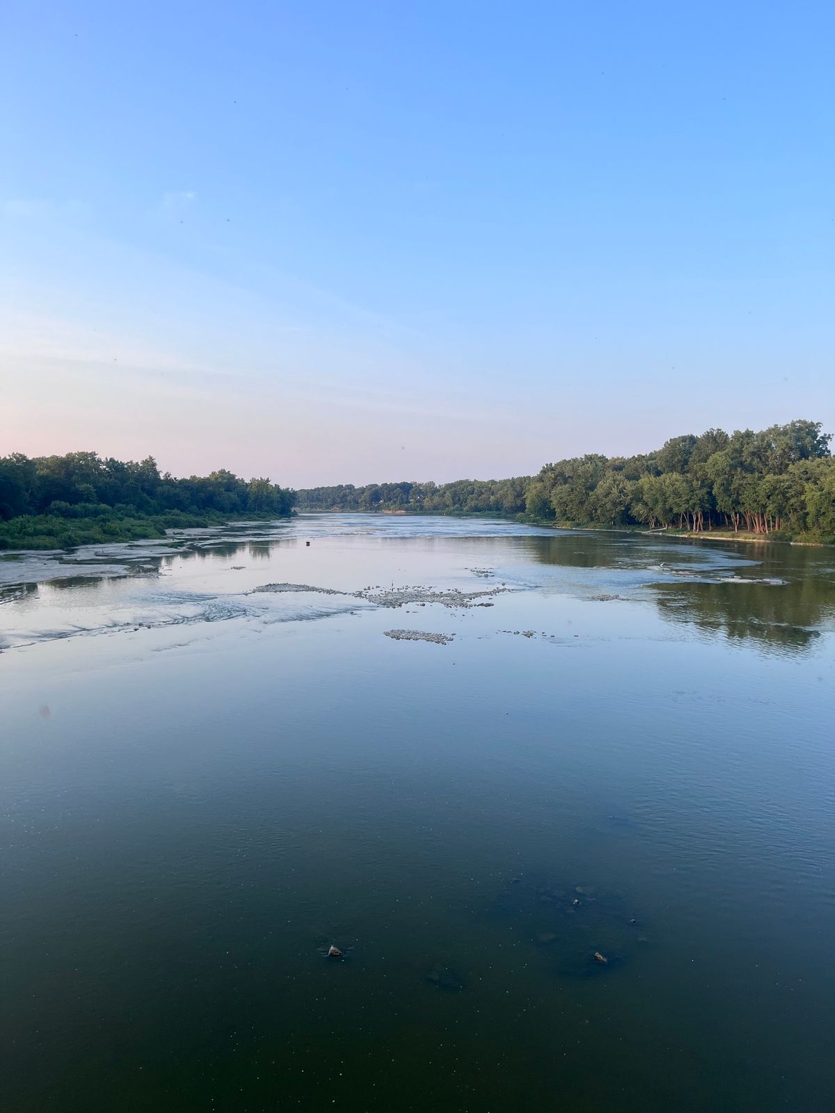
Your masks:
{"label": "whole calm river surface reflecting blue sky, between the wooded banks", "polygon": [[362,515],[0,561],[0,1107],[831,1111],[834,564]]}

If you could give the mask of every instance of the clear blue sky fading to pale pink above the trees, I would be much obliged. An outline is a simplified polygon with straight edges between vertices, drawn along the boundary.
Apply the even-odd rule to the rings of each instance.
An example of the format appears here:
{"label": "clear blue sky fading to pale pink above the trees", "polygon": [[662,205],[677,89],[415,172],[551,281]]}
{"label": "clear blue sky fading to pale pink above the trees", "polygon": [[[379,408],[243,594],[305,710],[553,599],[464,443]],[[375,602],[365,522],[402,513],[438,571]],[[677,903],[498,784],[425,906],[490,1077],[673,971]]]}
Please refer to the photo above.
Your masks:
{"label": "clear blue sky fading to pale pink above the trees", "polygon": [[835,431],[828,0],[0,20],[0,454],[305,486]]}

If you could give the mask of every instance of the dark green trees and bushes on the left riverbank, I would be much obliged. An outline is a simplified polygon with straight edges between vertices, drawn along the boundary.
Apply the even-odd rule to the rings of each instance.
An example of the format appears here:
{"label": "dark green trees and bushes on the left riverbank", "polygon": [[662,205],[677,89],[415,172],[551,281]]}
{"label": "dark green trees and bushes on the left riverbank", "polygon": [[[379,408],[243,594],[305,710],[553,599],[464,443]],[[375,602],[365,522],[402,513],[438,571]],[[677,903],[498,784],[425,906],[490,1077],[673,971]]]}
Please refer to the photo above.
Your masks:
{"label": "dark green trees and bushes on the left riverbank", "polygon": [[[95,452],[35,459],[13,453],[0,456],[0,548],[24,548],[32,538],[42,548],[50,538],[72,544],[72,539],[158,535],[168,523],[242,514],[284,518],[294,501],[295,492],[268,479],[247,482],[229,471],[188,479],[160,474],[151,456],[137,463]],[[151,519],[156,530],[144,532],[143,523]]]}

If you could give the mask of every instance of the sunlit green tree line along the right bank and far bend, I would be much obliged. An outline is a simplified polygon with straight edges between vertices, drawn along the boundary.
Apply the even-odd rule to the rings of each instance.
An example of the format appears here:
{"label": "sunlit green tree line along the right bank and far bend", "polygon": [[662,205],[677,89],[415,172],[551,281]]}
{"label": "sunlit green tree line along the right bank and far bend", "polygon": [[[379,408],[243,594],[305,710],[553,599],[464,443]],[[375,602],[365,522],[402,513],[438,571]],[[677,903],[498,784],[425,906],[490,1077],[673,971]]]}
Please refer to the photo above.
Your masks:
{"label": "sunlit green tree line along the right bank and far bend", "polygon": [[597,454],[538,475],[456,483],[381,483],[298,492],[307,510],[524,514],[557,524],[807,534],[835,540],[835,461],[819,422],[758,433],[711,429],[646,455]]}

